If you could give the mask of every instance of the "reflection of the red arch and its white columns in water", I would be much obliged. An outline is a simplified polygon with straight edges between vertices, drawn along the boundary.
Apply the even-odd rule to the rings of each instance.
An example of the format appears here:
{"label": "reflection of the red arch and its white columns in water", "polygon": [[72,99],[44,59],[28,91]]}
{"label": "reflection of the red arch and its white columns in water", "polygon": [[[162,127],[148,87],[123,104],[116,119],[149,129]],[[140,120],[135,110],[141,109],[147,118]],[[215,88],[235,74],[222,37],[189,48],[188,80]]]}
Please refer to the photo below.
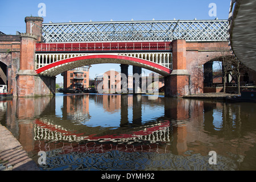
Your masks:
{"label": "reflection of the red arch and its white columns in water", "polygon": [[[149,143],[171,142],[171,131],[169,122],[156,123],[154,125],[148,125],[146,127],[138,127],[138,131],[134,131],[133,133],[116,134],[115,132],[118,131],[115,130],[113,131],[114,134],[108,135],[100,135],[98,133],[89,135],[76,134],[60,125],[53,125],[52,121],[37,119],[35,123],[35,140],[47,140],[51,142],[81,142],[84,140],[96,140],[100,142],[126,142],[128,144],[141,141],[148,141]],[[90,129],[91,127],[86,127],[85,130],[90,131]]]}

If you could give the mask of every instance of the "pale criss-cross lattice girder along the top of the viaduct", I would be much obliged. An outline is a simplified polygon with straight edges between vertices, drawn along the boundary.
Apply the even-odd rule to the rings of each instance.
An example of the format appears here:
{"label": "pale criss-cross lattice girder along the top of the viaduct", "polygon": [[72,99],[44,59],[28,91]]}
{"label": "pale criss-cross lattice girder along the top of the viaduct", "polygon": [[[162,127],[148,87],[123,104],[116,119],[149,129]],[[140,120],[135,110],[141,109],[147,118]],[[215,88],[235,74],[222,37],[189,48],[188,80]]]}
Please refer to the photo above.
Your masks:
{"label": "pale criss-cross lattice girder along the top of the viaduct", "polygon": [[228,20],[44,23],[44,42],[223,41]]}

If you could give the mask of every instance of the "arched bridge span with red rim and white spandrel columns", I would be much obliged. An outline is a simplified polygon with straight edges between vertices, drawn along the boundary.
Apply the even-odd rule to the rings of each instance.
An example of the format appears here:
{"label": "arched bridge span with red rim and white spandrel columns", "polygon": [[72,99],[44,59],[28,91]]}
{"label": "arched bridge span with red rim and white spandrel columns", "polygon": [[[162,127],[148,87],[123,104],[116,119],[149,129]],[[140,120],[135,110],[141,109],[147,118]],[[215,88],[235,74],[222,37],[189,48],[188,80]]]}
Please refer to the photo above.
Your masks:
{"label": "arched bridge span with red rim and white spandrel columns", "polygon": [[[170,53],[81,53],[81,54],[37,54],[36,73],[56,76],[82,65],[116,63],[149,69],[163,76],[171,74]],[[166,66],[164,66],[166,65]]]}

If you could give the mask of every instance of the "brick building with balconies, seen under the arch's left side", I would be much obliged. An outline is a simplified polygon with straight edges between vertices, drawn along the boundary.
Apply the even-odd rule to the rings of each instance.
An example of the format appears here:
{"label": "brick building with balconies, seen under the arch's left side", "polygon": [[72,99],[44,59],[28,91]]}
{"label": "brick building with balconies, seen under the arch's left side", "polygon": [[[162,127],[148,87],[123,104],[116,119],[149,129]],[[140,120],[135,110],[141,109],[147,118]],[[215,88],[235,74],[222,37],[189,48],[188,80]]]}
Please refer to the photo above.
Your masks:
{"label": "brick building with balconies, seen under the arch's left side", "polygon": [[61,73],[64,89],[83,89],[89,87],[89,66],[74,68]]}

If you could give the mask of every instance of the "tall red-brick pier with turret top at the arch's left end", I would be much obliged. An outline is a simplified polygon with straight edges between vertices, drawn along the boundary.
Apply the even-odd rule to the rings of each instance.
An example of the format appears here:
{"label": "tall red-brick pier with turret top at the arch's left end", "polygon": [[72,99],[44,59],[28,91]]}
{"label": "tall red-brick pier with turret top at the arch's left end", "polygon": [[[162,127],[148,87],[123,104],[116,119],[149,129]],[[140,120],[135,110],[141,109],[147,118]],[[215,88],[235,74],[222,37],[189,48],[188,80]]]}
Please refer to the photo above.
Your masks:
{"label": "tall red-brick pier with turret top at the arch's left end", "polygon": [[20,62],[16,76],[17,96],[34,97],[55,94],[55,78],[39,76],[35,72],[35,45],[42,41],[40,17],[26,17],[26,33],[20,34]]}

